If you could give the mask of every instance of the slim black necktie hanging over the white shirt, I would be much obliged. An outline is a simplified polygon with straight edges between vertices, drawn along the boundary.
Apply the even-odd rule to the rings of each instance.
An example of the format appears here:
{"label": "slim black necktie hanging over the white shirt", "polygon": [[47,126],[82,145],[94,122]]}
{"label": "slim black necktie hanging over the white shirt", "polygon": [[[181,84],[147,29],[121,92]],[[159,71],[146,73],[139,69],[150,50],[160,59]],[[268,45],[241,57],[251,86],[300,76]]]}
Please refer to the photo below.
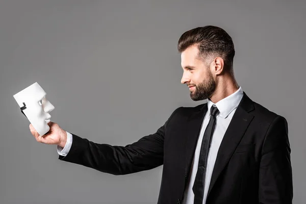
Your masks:
{"label": "slim black necktie hanging over the white shirt", "polygon": [[211,117],[206,127],[205,133],[203,135],[201,150],[199,155],[199,165],[196,172],[194,184],[192,187],[194,193],[194,202],[193,202],[194,204],[202,204],[203,202],[206,164],[207,164],[211,138],[214,132],[216,115],[218,114],[218,112],[219,112],[218,108],[215,105],[213,105],[211,108]]}

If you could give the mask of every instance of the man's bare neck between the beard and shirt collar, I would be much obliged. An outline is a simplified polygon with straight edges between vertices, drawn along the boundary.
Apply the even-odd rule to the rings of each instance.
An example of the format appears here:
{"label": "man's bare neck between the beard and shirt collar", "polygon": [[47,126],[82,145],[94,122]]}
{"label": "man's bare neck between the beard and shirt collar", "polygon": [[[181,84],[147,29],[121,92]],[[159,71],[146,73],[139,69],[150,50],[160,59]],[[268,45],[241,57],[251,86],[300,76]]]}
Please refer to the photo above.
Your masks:
{"label": "man's bare neck between the beard and shirt collar", "polygon": [[235,93],[239,89],[239,85],[235,78],[231,75],[220,76],[216,81],[216,90],[211,95],[210,100],[216,104],[219,100]]}

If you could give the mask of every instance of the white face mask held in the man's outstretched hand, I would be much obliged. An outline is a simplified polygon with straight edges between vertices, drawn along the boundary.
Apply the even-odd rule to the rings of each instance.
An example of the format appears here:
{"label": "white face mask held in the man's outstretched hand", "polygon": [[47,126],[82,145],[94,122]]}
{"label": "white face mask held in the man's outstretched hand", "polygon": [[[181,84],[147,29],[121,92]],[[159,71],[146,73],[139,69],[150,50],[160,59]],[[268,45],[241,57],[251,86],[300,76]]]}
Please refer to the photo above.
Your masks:
{"label": "white face mask held in the man's outstretched hand", "polygon": [[32,123],[39,135],[46,134],[50,127],[50,111],[54,106],[46,99],[46,92],[37,82],[14,95],[21,112]]}

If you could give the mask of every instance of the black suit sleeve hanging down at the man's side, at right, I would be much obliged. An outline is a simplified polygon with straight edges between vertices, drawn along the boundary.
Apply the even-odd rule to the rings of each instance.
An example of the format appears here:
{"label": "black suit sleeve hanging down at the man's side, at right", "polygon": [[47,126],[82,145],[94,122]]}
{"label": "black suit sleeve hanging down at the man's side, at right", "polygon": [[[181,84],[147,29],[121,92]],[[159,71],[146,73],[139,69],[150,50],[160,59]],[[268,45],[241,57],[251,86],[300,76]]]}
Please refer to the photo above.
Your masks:
{"label": "black suit sleeve hanging down at the man's side, at right", "polygon": [[288,123],[277,116],[267,131],[259,169],[259,203],[292,203],[293,184]]}

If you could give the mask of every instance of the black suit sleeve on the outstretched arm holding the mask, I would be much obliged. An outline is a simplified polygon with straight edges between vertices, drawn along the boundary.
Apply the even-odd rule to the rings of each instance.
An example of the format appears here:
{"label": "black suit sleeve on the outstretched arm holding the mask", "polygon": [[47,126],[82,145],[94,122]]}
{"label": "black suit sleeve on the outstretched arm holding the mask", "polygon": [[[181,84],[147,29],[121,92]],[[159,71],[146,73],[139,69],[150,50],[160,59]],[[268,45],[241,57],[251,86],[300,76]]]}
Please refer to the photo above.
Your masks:
{"label": "black suit sleeve on the outstretched arm holding the mask", "polygon": [[177,108],[156,133],[140,138],[126,146],[98,144],[72,134],[72,145],[60,160],[80,164],[114,175],[149,170],[163,164],[164,137],[167,125]]}

